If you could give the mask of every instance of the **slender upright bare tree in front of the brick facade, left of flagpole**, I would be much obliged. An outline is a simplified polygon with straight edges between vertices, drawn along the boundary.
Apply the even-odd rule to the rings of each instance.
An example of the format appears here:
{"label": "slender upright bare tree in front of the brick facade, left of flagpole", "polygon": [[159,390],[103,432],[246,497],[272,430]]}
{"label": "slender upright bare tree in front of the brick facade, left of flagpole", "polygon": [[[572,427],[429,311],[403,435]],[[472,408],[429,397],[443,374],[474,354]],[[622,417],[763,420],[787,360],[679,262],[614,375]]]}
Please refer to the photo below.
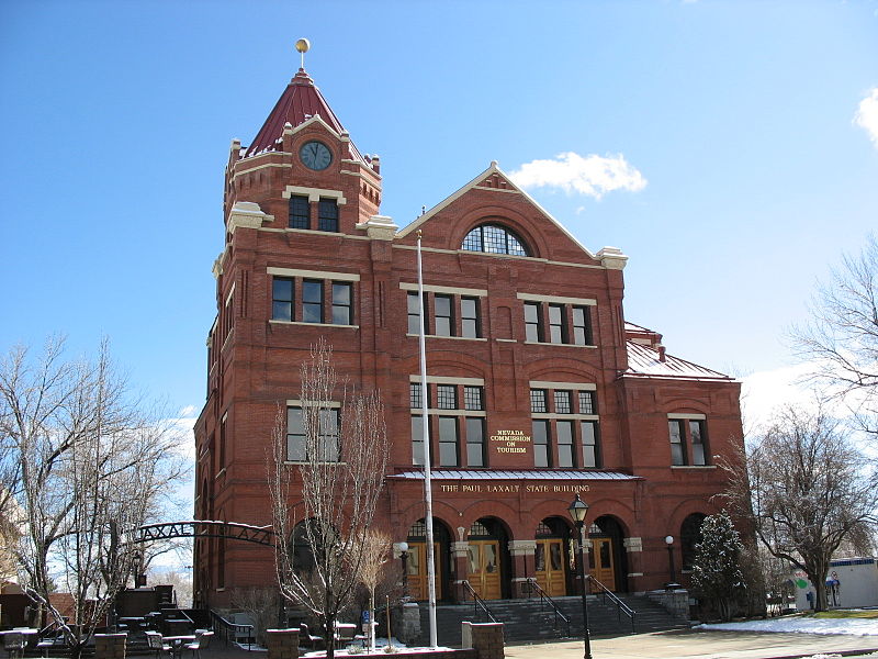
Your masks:
{"label": "slender upright bare tree in front of the brick facade, left of flagpole", "polygon": [[269,463],[275,565],[281,594],[320,621],[333,657],[335,622],[360,583],[362,538],[384,484],[387,433],[379,393],[339,384],[324,339],[303,362],[301,380],[304,445],[288,453],[282,411]]}

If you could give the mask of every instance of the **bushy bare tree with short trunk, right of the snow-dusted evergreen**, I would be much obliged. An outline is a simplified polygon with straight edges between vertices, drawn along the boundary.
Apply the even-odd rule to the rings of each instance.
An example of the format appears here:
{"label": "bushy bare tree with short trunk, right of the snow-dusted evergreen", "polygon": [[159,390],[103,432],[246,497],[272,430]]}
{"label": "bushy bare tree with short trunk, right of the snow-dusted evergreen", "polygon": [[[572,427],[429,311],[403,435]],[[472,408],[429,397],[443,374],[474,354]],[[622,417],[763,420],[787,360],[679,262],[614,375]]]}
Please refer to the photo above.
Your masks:
{"label": "bushy bare tree with short trunk, right of the snow-dusted evergreen", "polygon": [[727,495],[772,555],[808,574],[825,611],[833,554],[875,522],[875,469],[819,403],[781,409],[743,457],[723,465]]}

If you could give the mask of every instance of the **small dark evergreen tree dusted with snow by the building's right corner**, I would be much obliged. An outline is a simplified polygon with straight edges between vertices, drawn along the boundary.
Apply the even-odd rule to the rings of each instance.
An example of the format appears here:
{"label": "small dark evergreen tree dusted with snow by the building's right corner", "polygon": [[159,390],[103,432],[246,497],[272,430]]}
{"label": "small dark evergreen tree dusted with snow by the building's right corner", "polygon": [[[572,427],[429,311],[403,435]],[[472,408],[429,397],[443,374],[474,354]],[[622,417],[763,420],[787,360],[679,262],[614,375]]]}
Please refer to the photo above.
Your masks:
{"label": "small dark evergreen tree dusted with snow by the building's right corner", "polygon": [[701,543],[695,546],[693,587],[723,621],[732,618],[732,605],[745,589],[741,572],[743,545],[729,513],[705,517]]}

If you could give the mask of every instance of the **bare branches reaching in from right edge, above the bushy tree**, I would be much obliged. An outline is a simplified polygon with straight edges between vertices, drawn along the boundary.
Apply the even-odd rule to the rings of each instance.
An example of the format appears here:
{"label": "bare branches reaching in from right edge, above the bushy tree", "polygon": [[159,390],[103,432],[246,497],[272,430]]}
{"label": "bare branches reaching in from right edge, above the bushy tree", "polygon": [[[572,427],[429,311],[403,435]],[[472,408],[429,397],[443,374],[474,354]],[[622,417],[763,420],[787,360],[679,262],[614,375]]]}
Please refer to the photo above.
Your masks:
{"label": "bare branches reaching in from right edge, above the bushy tree", "polygon": [[[845,256],[811,303],[811,320],[792,330],[801,357],[814,360],[810,379],[829,384],[878,435],[878,239]],[[853,394],[853,395],[851,395]]]}

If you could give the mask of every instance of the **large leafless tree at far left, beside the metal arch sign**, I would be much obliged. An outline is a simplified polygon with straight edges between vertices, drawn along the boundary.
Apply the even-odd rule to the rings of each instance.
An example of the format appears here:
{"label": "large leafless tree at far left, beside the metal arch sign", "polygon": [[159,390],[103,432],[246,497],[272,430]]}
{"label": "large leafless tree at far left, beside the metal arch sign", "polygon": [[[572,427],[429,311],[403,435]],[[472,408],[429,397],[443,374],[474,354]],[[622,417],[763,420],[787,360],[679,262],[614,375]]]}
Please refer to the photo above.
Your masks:
{"label": "large leafless tree at far left, beside the metal arch sign", "polygon": [[[2,484],[20,506],[9,546],[24,592],[64,629],[77,657],[125,587],[134,543],[169,483],[183,472],[179,434],[133,395],[103,342],[95,360],[65,360],[64,340],[40,357],[12,349],[0,361]],[[49,602],[55,583],[74,597],[72,619]]]}

